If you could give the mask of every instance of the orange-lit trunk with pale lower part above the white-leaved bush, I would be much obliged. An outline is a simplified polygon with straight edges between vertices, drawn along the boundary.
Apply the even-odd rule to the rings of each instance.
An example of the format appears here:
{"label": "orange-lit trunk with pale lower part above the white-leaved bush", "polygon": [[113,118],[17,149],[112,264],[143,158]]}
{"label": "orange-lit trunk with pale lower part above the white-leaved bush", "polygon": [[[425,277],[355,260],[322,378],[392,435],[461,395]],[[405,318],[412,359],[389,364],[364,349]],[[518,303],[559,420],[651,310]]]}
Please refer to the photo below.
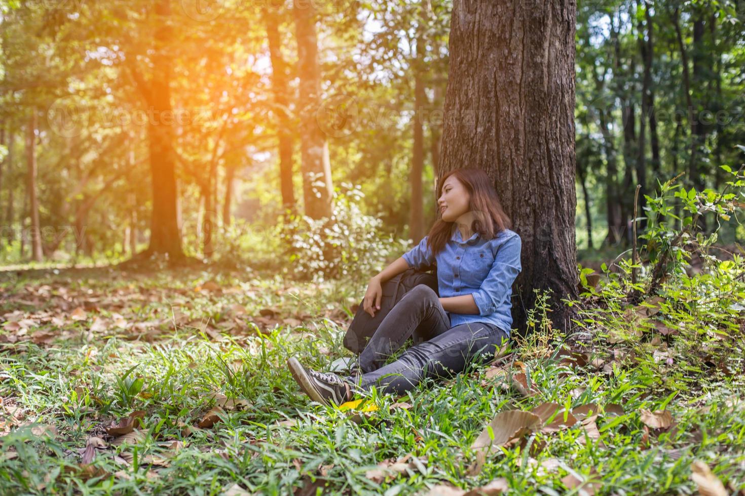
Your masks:
{"label": "orange-lit trunk with pale lower part above the white-leaved bush", "polygon": [[329,163],[329,144],[317,123],[321,103],[316,10],[306,0],[294,0],[299,75],[299,116],[302,156],[302,197],[305,215],[331,217],[334,187]]}

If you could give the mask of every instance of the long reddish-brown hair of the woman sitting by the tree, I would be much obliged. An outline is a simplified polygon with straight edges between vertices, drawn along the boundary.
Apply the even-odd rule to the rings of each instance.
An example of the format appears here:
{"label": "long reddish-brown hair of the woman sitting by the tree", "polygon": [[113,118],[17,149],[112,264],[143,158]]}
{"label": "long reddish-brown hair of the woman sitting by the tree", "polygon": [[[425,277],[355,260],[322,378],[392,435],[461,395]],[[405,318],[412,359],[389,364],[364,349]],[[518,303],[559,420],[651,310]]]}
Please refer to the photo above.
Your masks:
{"label": "long reddish-brown hair of the woman sitting by the tree", "polygon": [[[463,183],[471,196],[469,210],[477,213],[477,218],[471,225],[473,232],[478,232],[479,236],[484,239],[492,239],[501,231],[512,228],[512,221],[502,209],[492,179],[486,175],[484,170],[466,168],[446,173],[437,187],[437,199],[443,194],[443,184],[451,175]],[[454,224],[455,222],[444,221],[438,209],[438,219],[432,225],[427,238],[427,245],[431,248],[433,255],[445,248],[452,236]]]}

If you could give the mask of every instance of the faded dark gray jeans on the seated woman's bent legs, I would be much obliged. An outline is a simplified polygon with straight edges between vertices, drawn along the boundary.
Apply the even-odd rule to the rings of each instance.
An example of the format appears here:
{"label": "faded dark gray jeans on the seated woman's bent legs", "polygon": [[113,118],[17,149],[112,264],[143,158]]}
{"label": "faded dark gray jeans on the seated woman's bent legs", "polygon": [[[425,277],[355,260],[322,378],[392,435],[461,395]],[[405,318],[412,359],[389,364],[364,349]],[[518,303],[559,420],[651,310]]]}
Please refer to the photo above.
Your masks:
{"label": "faded dark gray jeans on the seated woman's bent legs", "polygon": [[[384,364],[412,338],[396,361]],[[476,361],[489,361],[507,342],[507,333],[491,323],[450,326],[450,318],[431,288],[420,284],[393,306],[359,355],[358,387],[404,393],[427,377],[459,373]]]}

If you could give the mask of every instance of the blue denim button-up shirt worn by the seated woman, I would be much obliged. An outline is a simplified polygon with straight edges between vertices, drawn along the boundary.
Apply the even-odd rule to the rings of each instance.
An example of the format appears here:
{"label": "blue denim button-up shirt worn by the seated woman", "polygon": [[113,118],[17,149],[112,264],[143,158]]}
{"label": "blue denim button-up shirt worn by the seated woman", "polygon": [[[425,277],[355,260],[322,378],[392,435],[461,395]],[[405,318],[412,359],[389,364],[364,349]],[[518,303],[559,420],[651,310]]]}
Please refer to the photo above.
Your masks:
{"label": "blue denim button-up shirt worn by the seated woman", "polygon": [[432,256],[425,236],[402,257],[410,267],[421,269],[437,261],[440,297],[473,294],[478,315],[448,312],[451,327],[468,322],[492,323],[510,335],[512,327],[512,285],[522,270],[522,241],[515,231],[505,229],[494,239],[474,233],[466,241],[454,227],[443,251]]}

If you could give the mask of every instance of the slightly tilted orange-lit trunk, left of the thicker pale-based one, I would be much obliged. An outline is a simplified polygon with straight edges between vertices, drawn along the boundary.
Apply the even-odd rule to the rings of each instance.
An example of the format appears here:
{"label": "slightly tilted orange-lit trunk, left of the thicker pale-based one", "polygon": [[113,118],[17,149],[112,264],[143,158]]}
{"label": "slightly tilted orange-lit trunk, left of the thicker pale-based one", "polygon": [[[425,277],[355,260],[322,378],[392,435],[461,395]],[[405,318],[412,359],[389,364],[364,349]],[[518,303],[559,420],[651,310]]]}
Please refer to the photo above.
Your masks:
{"label": "slightly tilted orange-lit trunk, left of the thicker pale-based one", "polygon": [[288,84],[287,63],[282,57],[282,37],[279,36],[279,15],[276,8],[264,8],[264,22],[267,26],[269,57],[272,62],[272,91],[274,93],[274,113],[277,116],[277,135],[279,138],[279,189],[282,191],[282,210],[297,213],[295,191],[292,184],[293,132],[289,115],[290,86]]}

